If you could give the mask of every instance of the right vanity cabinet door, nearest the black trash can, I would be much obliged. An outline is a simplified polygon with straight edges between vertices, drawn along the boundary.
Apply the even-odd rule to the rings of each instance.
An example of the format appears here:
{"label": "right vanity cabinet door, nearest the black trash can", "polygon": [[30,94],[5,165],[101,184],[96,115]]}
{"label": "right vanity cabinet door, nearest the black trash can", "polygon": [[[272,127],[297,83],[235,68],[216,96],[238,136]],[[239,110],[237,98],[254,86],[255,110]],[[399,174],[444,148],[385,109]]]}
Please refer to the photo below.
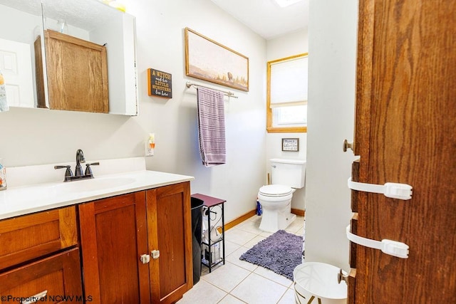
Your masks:
{"label": "right vanity cabinet door, nearest the black trash can", "polygon": [[152,303],[174,303],[192,288],[190,183],[147,190]]}

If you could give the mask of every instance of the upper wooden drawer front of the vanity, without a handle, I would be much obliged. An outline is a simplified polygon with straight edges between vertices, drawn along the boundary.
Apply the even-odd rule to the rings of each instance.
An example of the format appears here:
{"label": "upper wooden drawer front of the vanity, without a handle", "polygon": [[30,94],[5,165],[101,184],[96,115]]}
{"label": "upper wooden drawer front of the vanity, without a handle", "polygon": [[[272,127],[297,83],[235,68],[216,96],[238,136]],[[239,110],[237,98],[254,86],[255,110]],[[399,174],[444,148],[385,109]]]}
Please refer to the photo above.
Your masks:
{"label": "upper wooden drawer front of the vanity, without a handle", "polygon": [[70,206],[0,221],[0,271],[78,243]]}

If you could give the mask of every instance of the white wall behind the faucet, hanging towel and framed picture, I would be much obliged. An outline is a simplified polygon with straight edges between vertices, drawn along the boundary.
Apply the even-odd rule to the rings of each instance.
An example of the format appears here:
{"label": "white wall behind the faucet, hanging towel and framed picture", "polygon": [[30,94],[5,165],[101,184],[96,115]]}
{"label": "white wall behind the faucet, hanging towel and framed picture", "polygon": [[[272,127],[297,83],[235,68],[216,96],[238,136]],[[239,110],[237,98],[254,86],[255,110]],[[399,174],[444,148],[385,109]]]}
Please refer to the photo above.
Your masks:
{"label": "white wall behind the faucet, hanging towel and framed picture", "polygon": [[[192,193],[227,199],[226,221],[254,209],[266,174],[266,41],[209,0],[127,5],[137,22],[140,115],[21,108],[1,112],[4,164],[74,162],[79,148],[88,160],[142,156],[148,133],[155,132],[155,156],[147,158],[147,169],[194,176]],[[199,157],[196,91],[185,88],[186,80],[199,80],[185,76],[186,26],[249,57],[249,92],[233,90],[239,98],[225,103],[227,164],[217,167],[204,167]],[[171,100],[147,95],[147,68],[172,74]],[[93,171],[96,177],[95,167]]]}

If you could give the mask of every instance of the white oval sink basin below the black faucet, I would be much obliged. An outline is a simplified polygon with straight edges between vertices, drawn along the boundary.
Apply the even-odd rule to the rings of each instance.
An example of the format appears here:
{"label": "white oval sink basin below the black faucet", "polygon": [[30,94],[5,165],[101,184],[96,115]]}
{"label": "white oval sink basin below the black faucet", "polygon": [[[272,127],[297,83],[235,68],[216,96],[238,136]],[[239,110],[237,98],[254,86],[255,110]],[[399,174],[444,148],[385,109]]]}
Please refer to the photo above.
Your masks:
{"label": "white oval sink basin below the black faucet", "polygon": [[125,186],[136,182],[136,179],[132,177],[112,177],[112,178],[100,178],[100,179],[82,179],[73,182],[66,182],[58,184],[55,187],[56,190],[61,192],[92,192],[104,189],[111,189],[116,187]]}

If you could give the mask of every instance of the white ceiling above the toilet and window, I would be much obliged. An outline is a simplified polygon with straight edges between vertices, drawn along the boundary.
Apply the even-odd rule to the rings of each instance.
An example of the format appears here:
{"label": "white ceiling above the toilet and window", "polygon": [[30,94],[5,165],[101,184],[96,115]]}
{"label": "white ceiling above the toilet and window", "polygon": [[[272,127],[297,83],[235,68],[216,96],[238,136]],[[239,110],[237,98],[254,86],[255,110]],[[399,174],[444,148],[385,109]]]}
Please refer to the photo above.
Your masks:
{"label": "white ceiling above the toilet and window", "polygon": [[306,28],[309,23],[309,0],[281,8],[274,0],[211,0],[267,39]]}

